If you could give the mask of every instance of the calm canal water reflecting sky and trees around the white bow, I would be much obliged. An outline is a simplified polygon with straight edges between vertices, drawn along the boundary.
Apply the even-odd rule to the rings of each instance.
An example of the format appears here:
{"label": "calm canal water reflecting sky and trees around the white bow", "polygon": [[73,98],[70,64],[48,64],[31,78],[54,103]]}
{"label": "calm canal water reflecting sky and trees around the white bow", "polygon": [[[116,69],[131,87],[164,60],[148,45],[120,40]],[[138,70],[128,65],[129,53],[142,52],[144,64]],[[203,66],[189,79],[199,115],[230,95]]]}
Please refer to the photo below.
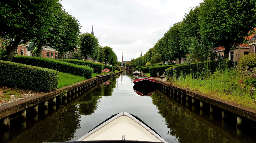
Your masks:
{"label": "calm canal water reflecting sky and trees around the white bow", "polygon": [[134,78],[124,71],[66,104],[28,114],[24,122],[12,120],[11,128],[1,133],[0,142],[75,141],[123,111],[139,117],[167,142],[255,142],[254,128],[237,128],[221,116],[170,99],[160,89],[134,90]]}

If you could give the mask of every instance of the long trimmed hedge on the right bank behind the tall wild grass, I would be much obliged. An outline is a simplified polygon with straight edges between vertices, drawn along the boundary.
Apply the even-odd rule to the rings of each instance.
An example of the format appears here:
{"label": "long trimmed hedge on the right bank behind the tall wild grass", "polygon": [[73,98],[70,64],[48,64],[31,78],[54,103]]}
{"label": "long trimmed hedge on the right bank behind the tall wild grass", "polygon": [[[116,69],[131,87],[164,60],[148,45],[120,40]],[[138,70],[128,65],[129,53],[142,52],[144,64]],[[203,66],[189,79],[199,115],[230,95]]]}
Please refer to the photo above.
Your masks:
{"label": "long trimmed hedge on the right bank behind the tall wild grass", "polygon": [[233,61],[232,60],[214,60],[214,61],[207,61],[207,62],[197,62],[192,64],[185,64],[185,65],[178,65],[170,67],[166,70],[167,75],[170,77],[174,76],[174,70],[176,70],[176,77],[178,78],[179,75],[182,72],[183,75],[189,74],[189,73],[202,73],[204,68],[207,68],[208,72],[214,73],[216,70],[216,67],[219,67],[220,69],[224,69],[225,67],[233,67]]}

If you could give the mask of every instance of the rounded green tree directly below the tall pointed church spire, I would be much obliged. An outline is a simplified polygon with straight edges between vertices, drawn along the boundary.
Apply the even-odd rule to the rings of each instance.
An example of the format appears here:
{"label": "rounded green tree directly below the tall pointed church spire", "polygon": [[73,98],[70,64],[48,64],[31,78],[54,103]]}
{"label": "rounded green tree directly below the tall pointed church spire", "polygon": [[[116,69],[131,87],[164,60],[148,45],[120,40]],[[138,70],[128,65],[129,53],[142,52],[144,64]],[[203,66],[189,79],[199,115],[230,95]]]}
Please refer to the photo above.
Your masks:
{"label": "rounded green tree directly below the tall pointed church spire", "polygon": [[82,55],[87,59],[87,57],[95,57],[98,52],[98,39],[86,32],[79,36],[79,42],[80,42],[80,50]]}

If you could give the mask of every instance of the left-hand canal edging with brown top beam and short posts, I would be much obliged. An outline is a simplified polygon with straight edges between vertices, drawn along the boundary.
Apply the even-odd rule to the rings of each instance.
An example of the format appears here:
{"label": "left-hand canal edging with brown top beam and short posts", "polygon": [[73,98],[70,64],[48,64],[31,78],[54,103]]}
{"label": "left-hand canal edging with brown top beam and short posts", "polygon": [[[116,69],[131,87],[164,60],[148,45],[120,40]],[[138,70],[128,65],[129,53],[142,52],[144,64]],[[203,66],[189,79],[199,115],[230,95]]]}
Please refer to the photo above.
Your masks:
{"label": "left-hand canal edging with brown top beam and short posts", "polygon": [[[119,71],[121,73],[123,71]],[[118,74],[116,73],[116,74]],[[78,83],[71,84],[57,89],[56,91],[38,94],[36,96],[31,96],[22,100],[18,100],[6,105],[0,106],[0,123],[3,123],[3,127],[10,127],[10,120],[19,119],[26,120],[26,113],[33,111],[38,113],[39,107],[48,108],[48,103],[56,104],[58,101],[61,101],[62,98],[67,99],[71,96],[75,99],[81,95],[81,93],[86,92],[88,89],[101,84],[112,78],[110,74],[96,75],[92,79],[86,79]],[[63,93],[66,91],[66,93]],[[63,96],[64,94],[64,96]],[[61,98],[61,95],[63,96]],[[0,124],[1,126],[1,124]]]}

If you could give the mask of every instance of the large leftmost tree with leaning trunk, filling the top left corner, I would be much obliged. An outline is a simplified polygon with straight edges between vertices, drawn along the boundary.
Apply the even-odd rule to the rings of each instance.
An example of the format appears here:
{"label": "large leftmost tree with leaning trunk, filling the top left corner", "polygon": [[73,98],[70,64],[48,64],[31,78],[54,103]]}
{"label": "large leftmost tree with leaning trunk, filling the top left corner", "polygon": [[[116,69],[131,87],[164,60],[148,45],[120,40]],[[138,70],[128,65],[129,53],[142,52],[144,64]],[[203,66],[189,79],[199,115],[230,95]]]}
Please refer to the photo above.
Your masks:
{"label": "large leftmost tree with leaning trunk, filling the top left corner", "polygon": [[59,0],[8,0],[1,1],[0,38],[9,39],[6,48],[7,61],[21,43],[49,33],[54,5]]}

